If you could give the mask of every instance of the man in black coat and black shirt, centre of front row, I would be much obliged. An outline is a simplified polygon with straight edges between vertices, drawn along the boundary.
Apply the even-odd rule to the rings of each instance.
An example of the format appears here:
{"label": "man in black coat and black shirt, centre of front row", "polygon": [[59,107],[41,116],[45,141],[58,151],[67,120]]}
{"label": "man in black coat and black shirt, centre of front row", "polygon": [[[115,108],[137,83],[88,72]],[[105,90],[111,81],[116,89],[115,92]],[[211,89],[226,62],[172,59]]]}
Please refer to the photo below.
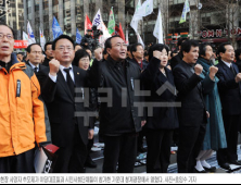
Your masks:
{"label": "man in black coat and black shirt, centre of front row", "polygon": [[105,144],[103,173],[115,173],[117,163],[118,173],[132,173],[137,133],[141,131],[141,118],[135,106],[141,100],[135,96],[135,79],[140,78],[141,72],[138,65],[126,60],[127,45],[119,36],[109,38],[105,48],[107,60],[96,60],[90,69],[92,87],[109,91],[109,103],[105,96],[100,106],[100,134]]}

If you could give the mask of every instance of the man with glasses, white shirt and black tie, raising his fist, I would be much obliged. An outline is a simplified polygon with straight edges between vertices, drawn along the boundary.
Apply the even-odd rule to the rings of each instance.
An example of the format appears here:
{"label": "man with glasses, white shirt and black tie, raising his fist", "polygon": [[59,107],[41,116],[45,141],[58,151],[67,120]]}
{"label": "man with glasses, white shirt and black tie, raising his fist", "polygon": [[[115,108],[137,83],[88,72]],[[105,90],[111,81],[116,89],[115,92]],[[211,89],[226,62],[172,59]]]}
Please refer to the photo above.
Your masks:
{"label": "man with glasses, white shirt and black tie, raising his fist", "polygon": [[[74,60],[74,41],[62,35],[53,41],[54,59],[50,61],[50,73],[46,77],[42,97],[48,106],[52,131],[52,141],[60,147],[54,173],[84,173],[86,145],[93,137],[92,125],[87,126],[84,118],[75,112],[85,113],[84,100],[87,88],[87,72],[72,65]],[[81,91],[80,94],[76,89]],[[90,130],[88,132],[88,130]]]}

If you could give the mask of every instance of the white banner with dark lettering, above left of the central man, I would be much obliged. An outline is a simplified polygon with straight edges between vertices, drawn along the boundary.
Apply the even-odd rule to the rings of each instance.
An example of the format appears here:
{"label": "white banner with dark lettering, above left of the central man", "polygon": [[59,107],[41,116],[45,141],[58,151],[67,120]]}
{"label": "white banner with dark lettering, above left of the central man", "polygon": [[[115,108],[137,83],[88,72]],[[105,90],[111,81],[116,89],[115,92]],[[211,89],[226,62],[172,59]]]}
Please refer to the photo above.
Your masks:
{"label": "white banner with dark lettering, above left of the central man", "polygon": [[111,34],[109,33],[106,26],[104,25],[100,10],[97,12],[93,18],[92,25],[96,25],[98,29],[103,32],[103,35],[100,36],[100,39],[99,39],[100,45],[103,46],[105,40],[111,37]]}

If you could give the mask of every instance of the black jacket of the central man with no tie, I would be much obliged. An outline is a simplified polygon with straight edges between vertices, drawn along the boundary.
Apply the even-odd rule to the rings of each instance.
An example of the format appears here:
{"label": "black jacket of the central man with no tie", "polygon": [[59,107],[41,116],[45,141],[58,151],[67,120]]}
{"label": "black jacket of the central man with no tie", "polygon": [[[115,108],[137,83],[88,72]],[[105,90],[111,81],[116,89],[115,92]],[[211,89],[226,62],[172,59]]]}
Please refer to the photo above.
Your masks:
{"label": "black jacket of the central man with no tie", "polygon": [[[106,61],[94,60],[90,69],[90,82],[93,88],[110,88],[113,92],[111,107],[106,102],[101,102],[100,106],[100,133],[104,135],[116,135],[126,133],[137,133],[141,131],[141,118],[138,116],[138,106],[135,102],[140,102],[140,97],[134,95],[135,79],[140,79],[139,67],[125,61],[125,66],[119,66],[111,57]],[[125,75],[120,72],[120,67],[125,71]],[[123,107],[123,88],[127,89],[126,107]],[[126,91],[126,90],[125,90]],[[99,95],[100,89],[99,89]],[[104,96],[106,98],[106,95]]]}

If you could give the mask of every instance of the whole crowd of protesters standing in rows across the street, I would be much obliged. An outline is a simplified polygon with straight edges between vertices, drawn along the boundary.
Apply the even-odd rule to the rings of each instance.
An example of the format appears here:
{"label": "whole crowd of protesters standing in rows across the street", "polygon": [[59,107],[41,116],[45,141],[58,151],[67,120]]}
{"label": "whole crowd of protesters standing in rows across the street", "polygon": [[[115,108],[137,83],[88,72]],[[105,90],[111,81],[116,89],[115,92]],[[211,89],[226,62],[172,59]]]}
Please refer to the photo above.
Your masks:
{"label": "whole crowd of protesters standing in rows across the street", "polygon": [[13,29],[0,24],[0,173],[35,173],[35,150],[49,144],[60,147],[54,173],[96,168],[97,118],[103,173],[132,173],[144,151],[148,173],[167,173],[173,143],[179,173],[215,172],[206,162],[214,151],[220,168],[241,165],[241,51],[231,44],[215,53],[211,44],[179,39],[170,51],[113,36],[93,49],[88,30],[81,45],[62,35],[45,51],[28,46],[26,57],[13,46]]}

